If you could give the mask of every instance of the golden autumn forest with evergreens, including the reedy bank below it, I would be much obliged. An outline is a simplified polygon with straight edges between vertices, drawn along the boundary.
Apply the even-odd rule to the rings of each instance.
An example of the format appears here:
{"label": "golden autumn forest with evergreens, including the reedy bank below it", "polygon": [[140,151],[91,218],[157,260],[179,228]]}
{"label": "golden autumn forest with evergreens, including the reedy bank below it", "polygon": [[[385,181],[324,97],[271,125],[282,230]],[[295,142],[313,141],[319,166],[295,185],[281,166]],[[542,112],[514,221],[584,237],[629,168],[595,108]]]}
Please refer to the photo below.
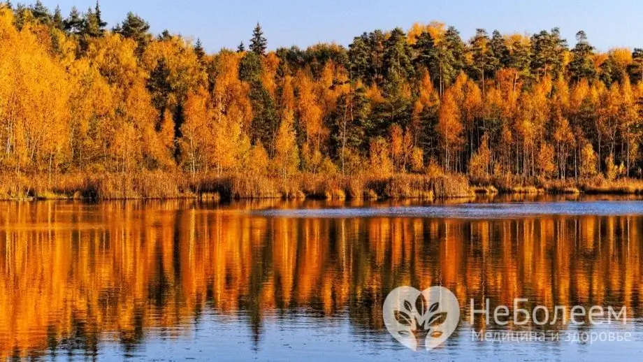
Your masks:
{"label": "golden autumn forest with evergreens, including the reedy bank below it", "polygon": [[0,198],[642,193],[643,50],[431,22],[205,52],[0,5]]}

